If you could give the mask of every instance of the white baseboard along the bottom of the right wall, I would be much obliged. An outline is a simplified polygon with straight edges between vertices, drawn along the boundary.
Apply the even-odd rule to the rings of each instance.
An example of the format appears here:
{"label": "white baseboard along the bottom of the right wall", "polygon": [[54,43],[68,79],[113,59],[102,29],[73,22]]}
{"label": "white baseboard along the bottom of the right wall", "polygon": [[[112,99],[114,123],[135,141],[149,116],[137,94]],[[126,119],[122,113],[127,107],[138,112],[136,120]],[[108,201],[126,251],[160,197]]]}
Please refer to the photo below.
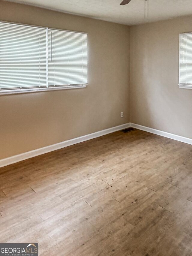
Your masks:
{"label": "white baseboard along the bottom of the right wall", "polygon": [[156,130],[156,129],[149,128],[149,127],[146,127],[146,126],[143,126],[143,125],[137,125],[137,124],[133,124],[133,123],[130,123],[130,125],[131,125],[131,127],[142,130],[142,131],[147,131],[147,132],[150,132],[150,133],[153,133],[153,134],[157,134],[157,135],[160,135],[160,136],[163,136],[163,137],[166,137],[166,138],[170,138],[170,139],[173,139],[173,140],[178,140],[178,141],[181,141],[181,142],[192,145],[192,139],[187,138],[187,137],[182,137],[182,136],[172,134],[172,133],[169,133],[169,132]]}

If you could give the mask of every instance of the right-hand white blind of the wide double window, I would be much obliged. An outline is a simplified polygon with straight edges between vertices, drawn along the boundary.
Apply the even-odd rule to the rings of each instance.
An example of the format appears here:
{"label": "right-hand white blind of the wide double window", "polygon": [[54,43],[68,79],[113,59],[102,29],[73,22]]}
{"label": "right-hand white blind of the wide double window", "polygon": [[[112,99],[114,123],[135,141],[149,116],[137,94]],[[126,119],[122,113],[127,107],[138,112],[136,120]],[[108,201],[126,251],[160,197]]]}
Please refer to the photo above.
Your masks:
{"label": "right-hand white blind of the wide double window", "polygon": [[48,86],[87,84],[87,34],[48,30]]}

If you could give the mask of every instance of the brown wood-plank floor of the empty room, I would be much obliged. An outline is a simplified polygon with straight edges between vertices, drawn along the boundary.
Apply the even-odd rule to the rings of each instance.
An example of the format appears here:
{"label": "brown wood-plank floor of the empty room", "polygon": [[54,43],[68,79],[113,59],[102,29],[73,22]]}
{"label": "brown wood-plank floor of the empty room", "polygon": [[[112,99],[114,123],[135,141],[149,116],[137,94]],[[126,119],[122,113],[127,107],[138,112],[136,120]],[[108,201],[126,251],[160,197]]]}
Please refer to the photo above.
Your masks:
{"label": "brown wood-plank floor of the empty room", "polygon": [[41,256],[192,255],[192,146],[119,131],[3,167],[0,229]]}

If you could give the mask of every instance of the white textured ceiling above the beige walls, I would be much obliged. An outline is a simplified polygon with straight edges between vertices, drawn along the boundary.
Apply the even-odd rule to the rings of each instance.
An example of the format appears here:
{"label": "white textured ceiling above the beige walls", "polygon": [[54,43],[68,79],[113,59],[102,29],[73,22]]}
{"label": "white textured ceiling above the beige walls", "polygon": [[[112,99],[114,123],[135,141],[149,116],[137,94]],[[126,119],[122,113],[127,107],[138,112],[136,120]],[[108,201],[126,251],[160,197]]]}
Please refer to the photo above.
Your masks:
{"label": "white textured ceiling above the beige walls", "polygon": [[78,14],[99,20],[136,25],[192,14],[192,0],[149,0],[149,17],[144,19],[144,0],[13,0],[23,4]]}

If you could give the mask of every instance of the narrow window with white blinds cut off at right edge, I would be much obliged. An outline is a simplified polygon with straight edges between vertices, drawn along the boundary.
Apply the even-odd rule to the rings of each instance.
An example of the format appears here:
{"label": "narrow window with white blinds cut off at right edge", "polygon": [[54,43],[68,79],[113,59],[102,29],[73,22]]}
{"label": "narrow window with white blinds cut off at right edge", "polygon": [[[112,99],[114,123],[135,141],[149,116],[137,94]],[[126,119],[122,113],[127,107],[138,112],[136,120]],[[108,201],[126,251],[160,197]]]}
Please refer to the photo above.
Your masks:
{"label": "narrow window with white blinds cut off at right edge", "polygon": [[179,35],[179,87],[192,89],[192,33]]}

